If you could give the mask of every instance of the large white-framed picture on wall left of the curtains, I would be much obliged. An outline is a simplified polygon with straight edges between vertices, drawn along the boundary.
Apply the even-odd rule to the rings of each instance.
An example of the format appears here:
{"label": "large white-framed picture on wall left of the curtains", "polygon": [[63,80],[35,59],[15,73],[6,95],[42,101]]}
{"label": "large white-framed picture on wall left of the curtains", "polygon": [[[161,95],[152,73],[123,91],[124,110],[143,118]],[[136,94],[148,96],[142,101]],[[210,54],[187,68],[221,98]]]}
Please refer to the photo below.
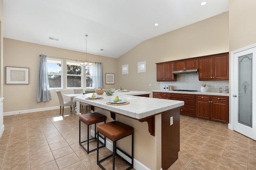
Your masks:
{"label": "large white-framed picture on wall left of the curtains", "polygon": [[28,84],[29,68],[6,67],[6,84]]}

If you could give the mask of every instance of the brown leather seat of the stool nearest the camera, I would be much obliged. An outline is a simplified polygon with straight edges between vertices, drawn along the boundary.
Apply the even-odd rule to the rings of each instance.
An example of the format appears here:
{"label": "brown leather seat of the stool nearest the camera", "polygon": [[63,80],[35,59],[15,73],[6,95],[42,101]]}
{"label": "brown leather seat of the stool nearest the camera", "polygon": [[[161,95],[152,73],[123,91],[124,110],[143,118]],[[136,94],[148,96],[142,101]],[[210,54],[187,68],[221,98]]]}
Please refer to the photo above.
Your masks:
{"label": "brown leather seat of the stool nearest the camera", "polygon": [[112,141],[129,136],[134,132],[133,127],[118,121],[98,125],[97,130]]}

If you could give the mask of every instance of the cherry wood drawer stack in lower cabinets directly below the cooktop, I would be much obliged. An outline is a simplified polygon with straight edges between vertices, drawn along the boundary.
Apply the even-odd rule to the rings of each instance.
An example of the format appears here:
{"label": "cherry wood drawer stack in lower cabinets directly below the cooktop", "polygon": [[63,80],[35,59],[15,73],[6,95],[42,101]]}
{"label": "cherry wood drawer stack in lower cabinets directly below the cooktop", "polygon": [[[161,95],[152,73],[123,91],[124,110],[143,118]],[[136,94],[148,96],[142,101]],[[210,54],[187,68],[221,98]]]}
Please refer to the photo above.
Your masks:
{"label": "cherry wood drawer stack in lower cabinets directly below the cooktop", "polygon": [[171,99],[184,101],[184,106],[180,107],[180,114],[188,116],[196,116],[196,95],[172,93]]}

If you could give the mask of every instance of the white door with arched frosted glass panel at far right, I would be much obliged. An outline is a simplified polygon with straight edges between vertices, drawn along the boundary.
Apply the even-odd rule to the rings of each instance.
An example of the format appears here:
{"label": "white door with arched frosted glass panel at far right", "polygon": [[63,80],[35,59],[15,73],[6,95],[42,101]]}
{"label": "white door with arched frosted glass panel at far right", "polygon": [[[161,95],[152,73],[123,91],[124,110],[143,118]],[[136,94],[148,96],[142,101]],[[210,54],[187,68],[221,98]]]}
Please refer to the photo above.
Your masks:
{"label": "white door with arched frosted glass panel at far right", "polygon": [[256,140],[256,44],[231,53],[233,130]]}

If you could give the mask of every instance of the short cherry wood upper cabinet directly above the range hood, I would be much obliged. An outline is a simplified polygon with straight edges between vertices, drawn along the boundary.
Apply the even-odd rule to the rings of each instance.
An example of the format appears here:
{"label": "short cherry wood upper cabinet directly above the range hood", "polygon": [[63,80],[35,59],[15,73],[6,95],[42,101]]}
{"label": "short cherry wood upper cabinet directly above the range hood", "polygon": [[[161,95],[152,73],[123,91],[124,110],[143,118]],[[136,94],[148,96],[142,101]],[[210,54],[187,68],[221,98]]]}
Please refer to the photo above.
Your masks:
{"label": "short cherry wood upper cabinet directly above the range hood", "polygon": [[174,71],[186,69],[198,69],[198,58],[174,61]]}

